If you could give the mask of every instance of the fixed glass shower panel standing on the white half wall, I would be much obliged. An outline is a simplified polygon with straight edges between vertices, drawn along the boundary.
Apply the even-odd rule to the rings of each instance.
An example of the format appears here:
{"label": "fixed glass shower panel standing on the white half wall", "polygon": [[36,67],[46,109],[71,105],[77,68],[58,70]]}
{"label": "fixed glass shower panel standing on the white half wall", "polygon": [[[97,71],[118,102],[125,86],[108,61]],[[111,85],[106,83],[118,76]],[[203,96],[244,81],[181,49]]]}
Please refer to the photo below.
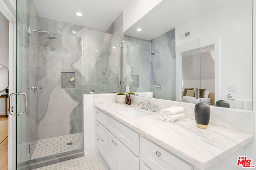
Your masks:
{"label": "fixed glass shower panel standing on the white half wall", "polygon": [[83,33],[84,93],[120,92],[121,37],[94,30]]}

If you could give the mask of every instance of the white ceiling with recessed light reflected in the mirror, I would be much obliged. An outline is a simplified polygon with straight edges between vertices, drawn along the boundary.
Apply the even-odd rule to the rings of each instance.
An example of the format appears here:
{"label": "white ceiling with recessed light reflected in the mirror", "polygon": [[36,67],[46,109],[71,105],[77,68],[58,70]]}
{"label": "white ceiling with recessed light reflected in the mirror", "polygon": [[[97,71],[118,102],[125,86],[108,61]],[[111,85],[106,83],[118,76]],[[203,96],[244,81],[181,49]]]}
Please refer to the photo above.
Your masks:
{"label": "white ceiling with recessed light reflected in the mirror", "polygon": [[[148,41],[232,0],[163,0],[124,32]],[[142,31],[136,29],[140,27]]]}

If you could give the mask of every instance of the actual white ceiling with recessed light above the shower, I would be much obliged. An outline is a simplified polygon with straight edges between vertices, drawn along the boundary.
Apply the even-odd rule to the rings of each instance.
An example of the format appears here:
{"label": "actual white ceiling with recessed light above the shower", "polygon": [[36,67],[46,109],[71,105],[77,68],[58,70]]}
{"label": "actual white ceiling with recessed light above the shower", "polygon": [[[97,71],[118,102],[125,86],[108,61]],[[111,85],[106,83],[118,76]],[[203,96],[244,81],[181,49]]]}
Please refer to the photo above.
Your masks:
{"label": "actual white ceiling with recessed light above the shower", "polygon": [[[34,0],[38,16],[106,31],[131,0]],[[82,17],[76,12],[84,14]]]}

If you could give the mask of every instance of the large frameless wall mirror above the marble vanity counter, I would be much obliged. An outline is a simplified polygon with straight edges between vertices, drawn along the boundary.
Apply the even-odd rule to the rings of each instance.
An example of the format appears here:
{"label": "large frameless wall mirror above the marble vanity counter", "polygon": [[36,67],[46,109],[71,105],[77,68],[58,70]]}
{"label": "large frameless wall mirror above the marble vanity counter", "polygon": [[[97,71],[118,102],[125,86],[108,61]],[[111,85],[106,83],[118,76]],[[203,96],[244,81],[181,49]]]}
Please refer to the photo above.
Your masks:
{"label": "large frameless wall mirror above the marble vanity counter", "polygon": [[253,0],[163,0],[124,30],[126,84],[252,111],[252,12]]}

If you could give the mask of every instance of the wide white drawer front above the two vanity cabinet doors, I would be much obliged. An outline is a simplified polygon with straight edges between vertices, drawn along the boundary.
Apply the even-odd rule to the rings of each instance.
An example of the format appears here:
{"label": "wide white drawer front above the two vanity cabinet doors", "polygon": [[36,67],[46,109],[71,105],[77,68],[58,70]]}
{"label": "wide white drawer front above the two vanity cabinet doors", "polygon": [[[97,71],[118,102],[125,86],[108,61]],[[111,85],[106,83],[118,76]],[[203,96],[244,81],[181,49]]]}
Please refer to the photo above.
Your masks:
{"label": "wide white drawer front above the two vanity cabinet doors", "polygon": [[134,154],[139,155],[139,134],[137,132],[106,114],[104,114],[103,125]]}

